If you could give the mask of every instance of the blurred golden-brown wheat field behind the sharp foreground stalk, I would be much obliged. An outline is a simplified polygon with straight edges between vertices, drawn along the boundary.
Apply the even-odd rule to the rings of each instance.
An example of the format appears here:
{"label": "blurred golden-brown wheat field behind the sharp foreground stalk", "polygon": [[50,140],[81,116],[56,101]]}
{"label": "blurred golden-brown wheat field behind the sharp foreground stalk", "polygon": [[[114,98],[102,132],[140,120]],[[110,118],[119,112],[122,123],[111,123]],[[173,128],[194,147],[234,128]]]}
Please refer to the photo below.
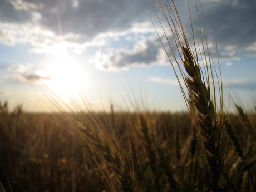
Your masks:
{"label": "blurred golden-brown wheat field behind the sharp foreground stalk", "polygon": [[[238,107],[238,114],[227,117],[221,191],[255,191],[255,115]],[[86,122],[79,127],[81,119]],[[0,131],[0,181],[6,191],[215,188],[207,151],[186,113],[73,114],[63,120],[21,107],[9,112],[1,104]]]}

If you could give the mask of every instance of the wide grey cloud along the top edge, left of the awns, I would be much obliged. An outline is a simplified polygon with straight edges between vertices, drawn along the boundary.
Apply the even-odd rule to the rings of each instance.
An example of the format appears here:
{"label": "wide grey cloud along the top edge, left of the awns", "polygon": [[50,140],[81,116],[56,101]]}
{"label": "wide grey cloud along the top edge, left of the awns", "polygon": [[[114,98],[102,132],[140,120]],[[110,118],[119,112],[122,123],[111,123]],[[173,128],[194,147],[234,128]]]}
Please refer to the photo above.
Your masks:
{"label": "wide grey cloud along the top edge, left of the awns", "polygon": [[36,23],[55,35],[75,33],[81,35],[78,42],[90,41],[100,33],[119,32],[130,29],[134,23],[149,21],[147,10],[152,9],[148,1],[137,3],[119,1],[26,1],[15,0],[7,3],[2,17],[8,23],[33,21],[32,14],[41,16]]}

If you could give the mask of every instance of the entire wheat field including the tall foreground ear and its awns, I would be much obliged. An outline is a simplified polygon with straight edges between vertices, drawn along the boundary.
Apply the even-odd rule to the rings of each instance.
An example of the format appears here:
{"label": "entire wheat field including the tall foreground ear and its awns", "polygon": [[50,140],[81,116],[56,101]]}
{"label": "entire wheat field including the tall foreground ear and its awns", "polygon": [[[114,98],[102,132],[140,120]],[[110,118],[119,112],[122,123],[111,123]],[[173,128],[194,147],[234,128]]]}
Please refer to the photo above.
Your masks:
{"label": "entire wheat field including the tall foreground ear and its awns", "polygon": [[0,191],[256,191],[256,111],[224,110],[200,9],[191,43],[174,2],[156,3],[188,112],[83,112],[72,99],[67,112],[50,97],[61,112],[30,114],[3,102]]}

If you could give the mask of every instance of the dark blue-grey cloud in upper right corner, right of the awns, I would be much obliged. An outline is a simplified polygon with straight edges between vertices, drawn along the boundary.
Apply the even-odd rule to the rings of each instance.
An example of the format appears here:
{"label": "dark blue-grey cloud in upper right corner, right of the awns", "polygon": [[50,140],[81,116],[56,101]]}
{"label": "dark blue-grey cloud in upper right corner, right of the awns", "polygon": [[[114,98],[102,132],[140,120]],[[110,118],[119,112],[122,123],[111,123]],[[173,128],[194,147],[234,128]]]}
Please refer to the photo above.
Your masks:
{"label": "dark blue-grey cloud in upper right corner, right of the awns", "polygon": [[[215,44],[215,27],[220,57],[256,56],[256,1],[227,0],[202,4],[208,41]],[[215,13],[214,13],[215,12]],[[215,19],[214,19],[215,14]],[[194,23],[197,22],[194,18]],[[199,36],[199,30],[194,28]]]}

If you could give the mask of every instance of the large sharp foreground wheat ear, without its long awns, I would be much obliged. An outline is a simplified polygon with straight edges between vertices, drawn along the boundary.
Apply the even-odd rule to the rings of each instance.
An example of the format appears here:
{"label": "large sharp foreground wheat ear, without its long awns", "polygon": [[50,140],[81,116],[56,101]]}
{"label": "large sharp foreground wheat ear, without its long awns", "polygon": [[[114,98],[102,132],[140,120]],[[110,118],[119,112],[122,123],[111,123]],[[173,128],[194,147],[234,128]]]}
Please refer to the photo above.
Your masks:
{"label": "large sharp foreground wheat ear, without its long awns", "polygon": [[199,64],[195,62],[189,48],[182,47],[183,65],[190,77],[185,77],[186,86],[193,95],[192,105],[196,108],[199,131],[203,140],[207,159],[214,175],[214,183],[218,184],[223,169],[223,146],[221,146],[223,125],[216,120],[215,106],[210,99],[210,87],[202,81]]}

